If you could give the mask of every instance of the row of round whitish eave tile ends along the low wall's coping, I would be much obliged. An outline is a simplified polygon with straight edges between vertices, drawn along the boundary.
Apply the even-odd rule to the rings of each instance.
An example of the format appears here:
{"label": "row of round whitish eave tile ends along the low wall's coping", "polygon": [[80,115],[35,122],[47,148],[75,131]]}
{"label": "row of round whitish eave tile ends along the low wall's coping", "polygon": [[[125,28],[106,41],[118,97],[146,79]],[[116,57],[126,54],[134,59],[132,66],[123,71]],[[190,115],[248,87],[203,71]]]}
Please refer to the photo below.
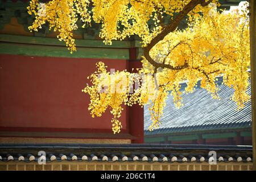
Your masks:
{"label": "row of round whitish eave tile ends along the low wall's coping", "polygon": [[[63,162],[63,161],[68,161],[68,162],[82,162],[82,161],[88,161],[88,162],[168,162],[168,163],[191,163],[191,162],[197,162],[197,163],[202,163],[202,162],[209,162],[213,161],[214,159],[212,157],[208,158],[206,156],[202,155],[189,155],[189,156],[184,156],[184,155],[75,155],[75,154],[47,154],[47,156],[34,156],[32,154],[25,154],[25,155],[20,155],[20,154],[15,154],[15,155],[1,155],[0,156],[0,161],[2,162],[38,162],[46,160],[46,162]],[[217,157],[217,162],[251,162],[251,156],[228,156],[228,155],[220,155]]]}

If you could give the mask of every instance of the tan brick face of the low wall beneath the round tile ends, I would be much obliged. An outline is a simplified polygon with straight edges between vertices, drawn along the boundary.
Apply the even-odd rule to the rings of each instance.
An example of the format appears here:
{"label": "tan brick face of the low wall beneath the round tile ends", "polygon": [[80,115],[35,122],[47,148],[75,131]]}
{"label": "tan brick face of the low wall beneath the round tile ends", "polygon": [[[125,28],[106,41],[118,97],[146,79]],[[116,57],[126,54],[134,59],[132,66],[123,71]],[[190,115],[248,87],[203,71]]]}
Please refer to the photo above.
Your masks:
{"label": "tan brick face of the low wall beneath the round tile ends", "polygon": [[148,163],[148,162],[0,162],[0,171],[250,171],[253,163],[229,162],[216,165],[204,163]]}

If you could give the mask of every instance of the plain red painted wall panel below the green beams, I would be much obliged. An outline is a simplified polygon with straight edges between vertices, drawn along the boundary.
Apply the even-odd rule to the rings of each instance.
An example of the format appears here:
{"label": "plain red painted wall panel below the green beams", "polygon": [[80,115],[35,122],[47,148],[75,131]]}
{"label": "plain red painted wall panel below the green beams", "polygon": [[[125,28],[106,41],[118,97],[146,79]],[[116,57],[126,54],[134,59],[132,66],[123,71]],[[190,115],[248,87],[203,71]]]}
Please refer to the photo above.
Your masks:
{"label": "plain red painted wall panel below the green beams", "polygon": [[[109,110],[100,118],[88,111],[81,92],[103,59],[0,55],[0,130],[112,132]],[[129,68],[127,60],[107,60],[108,68]],[[126,109],[121,121],[128,132]],[[22,128],[20,128],[22,127]]]}

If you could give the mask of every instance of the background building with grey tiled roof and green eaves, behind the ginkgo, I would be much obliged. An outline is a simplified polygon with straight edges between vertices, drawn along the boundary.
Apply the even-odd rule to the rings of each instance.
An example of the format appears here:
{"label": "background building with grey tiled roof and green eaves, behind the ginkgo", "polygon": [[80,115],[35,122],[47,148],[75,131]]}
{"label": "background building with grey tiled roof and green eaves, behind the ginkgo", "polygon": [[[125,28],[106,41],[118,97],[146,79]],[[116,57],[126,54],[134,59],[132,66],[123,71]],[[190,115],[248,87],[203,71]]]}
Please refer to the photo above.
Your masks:
{"label": "background building with grey tiled roof and green eaves, behind the ginkgo", "polygon": [[[217,78],[220,100],[213,99],[200,82],[191,94],[183,94],[183,106],[177,109],[170,95],[162,124],[148,131],[150,113],[144,108],[144,140],[146,143],[251,145],[251,101],[242,110],[231,100],[234,90]],[[181,84],[181,91],[187,84]],[[251,95],[250,86],[247,93]]]}

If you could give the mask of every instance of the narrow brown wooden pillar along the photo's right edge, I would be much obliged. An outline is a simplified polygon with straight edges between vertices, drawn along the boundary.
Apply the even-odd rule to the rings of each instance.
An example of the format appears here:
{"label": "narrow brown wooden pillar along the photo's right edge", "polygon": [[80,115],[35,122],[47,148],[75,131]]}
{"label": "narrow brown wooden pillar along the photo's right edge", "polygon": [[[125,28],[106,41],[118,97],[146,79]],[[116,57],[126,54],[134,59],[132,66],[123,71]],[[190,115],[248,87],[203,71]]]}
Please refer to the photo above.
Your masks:
{"label": "narrow brown wooden pillar along the photo's right edge", "polygon": [[256,0],[250,0],[250,53],[251,53],[251,118],[253,138],[253,170],[256,171]]}

